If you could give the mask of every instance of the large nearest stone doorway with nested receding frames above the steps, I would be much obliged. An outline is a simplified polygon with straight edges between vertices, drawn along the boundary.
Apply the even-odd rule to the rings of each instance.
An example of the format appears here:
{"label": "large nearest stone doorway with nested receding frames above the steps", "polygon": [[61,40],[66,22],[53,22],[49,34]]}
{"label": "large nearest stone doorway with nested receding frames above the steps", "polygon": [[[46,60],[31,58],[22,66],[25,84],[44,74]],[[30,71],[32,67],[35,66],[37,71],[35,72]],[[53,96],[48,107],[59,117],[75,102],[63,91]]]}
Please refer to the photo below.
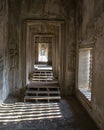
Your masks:
{"label": "large nearest stone doorway with nested receding frames above the steps", "polygon": [[[38,46],[48,44],[48,65],[52,66],[53,74],[61,84],[63,79],[63,21],[27,20],[25,21],[25,65],[24,85],[29,84],[29,75],[34,71],[34,64],[38,63]],[[35,50],[35,51],[34,51]],[[34,61],[35,57],[35,61]],[[60,57],[60,58],[59,58]]]}

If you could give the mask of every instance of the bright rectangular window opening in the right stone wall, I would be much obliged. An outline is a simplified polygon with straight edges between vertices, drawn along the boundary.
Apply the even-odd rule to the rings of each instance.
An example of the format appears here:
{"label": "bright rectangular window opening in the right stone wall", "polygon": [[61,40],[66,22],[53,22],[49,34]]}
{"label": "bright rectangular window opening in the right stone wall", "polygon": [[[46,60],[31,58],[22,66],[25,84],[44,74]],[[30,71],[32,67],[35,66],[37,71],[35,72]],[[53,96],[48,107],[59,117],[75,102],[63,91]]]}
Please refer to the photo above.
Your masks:
{"label": "bright rectangular window opening in the right stone wall", "polygon": [[78,89],[91,101],[93,48],[79,49]]}

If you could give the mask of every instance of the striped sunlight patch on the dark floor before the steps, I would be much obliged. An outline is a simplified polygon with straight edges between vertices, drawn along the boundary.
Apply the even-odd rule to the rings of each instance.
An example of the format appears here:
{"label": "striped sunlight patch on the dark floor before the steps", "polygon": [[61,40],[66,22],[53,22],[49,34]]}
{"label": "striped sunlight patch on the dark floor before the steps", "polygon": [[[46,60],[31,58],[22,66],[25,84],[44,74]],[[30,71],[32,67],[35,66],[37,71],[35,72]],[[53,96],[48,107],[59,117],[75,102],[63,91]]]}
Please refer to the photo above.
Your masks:
{"label": "striped sunlight patch on the dark floor before the steps", "polygon": [[0,106],[0,123],[62,118],[58,103],[14,103]]}

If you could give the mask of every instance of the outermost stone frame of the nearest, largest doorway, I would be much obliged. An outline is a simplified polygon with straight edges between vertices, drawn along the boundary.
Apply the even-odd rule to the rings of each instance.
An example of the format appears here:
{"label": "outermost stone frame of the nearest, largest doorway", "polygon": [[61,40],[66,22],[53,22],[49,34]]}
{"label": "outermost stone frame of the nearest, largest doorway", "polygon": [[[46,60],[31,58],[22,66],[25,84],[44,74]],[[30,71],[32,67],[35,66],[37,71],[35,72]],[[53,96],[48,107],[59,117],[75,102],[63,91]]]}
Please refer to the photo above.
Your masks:
{"label": "outermost stone frame of the nearest, largest doorway", "polygon": [[[58,27],[59,30],[59,36],[58,36],[58,40],[59,40],[59,45],[58,45],[58,54],[57,57],[61,57],[61,59],[58,59],[57,61],[57,65],[56,65],[56,73],[58,76],[58,81],[59,84],[61,86],[61,84],[63,84],[63,68],[64,68],[64,62],[63,62],[63,58],[64,58],[64,53],[63,53],[63,46],[64,46],[64,37],[62,36],[63,32],[64,32],[64,21],[63,20],[25,20],[24,21],[24,30],[23,30],[23,44],[25,46],[25,50],[23,52],[23,58],[24,58],[24,62],[23,63],[23,86],[27,86],[29,84],[29,75],[31,74],[31,37],[33,35],[34,32],[32,32],[31,28],[36,26],[37,24],[49,24],[49,25],[54,25],[56,27]],[[37,33],[37,35],[40,35]],[[52,34],[53,35],[53,34]],[[46,35],[45,35],[46,36]],[[53,41],[52,41],[53,42]],[[57,58],[56,58],[57,59]]]}

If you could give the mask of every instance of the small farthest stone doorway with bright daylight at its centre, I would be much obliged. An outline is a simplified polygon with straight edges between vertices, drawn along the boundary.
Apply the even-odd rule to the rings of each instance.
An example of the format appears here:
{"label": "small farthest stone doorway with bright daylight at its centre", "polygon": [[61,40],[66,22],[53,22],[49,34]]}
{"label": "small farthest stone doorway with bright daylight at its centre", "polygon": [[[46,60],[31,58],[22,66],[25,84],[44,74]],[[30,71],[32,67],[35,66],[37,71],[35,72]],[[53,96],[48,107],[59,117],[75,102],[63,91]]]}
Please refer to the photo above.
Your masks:
{"label": "small farthest stone doorway with bright daylight at its centre", "polygon": [[53,36],[34,36],[33,65],[46,64],[52,66]]}

